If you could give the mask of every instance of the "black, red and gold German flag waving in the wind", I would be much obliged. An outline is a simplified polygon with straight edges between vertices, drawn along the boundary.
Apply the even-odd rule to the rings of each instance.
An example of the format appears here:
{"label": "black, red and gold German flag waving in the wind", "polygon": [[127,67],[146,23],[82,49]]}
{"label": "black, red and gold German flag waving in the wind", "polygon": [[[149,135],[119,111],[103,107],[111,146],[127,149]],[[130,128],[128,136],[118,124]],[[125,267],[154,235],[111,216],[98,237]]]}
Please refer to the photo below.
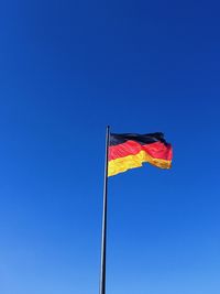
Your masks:
{"label": "black, red and gold German flag waving in the wind", "polygon": [[111,133],[109,140],[108,176],[123,173],[128,170],[140,167],[148,162],[160,168],[170,168],[172,145],[161,132]]}

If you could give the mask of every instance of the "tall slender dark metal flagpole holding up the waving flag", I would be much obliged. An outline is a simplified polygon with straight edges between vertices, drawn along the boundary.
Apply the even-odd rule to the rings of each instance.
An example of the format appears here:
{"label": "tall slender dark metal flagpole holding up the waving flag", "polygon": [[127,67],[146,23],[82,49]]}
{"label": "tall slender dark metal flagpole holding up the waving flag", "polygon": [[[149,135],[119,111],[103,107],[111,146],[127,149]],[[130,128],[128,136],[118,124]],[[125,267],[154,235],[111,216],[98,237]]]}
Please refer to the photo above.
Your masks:
{"label": "tall slender dark metal flagpole holding up the waving flag", "polygon": [[103,211],[102,211],[102,233],[101,233],[101,272],[99,294],[106,294],[106,259],[107,259],[107,211],[108,211],[108,157],[109,157],[110,127],[106,132],[106,160],[103,179]]}

